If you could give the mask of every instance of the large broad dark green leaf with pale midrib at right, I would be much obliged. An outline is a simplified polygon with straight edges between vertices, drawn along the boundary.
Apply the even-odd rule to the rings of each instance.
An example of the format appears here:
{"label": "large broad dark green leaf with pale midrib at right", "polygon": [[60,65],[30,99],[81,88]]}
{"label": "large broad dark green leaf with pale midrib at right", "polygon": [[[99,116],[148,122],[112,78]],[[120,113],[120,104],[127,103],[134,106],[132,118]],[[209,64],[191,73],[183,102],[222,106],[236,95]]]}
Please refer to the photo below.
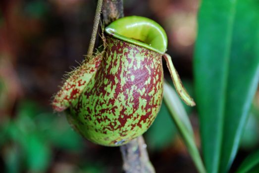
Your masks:
{"label": "large broad dark green leaf with pale midrib at right", "polygon": [[195,90],[207,172],[236,156],[259,79],[258,0],[203,0],[195,46]]}

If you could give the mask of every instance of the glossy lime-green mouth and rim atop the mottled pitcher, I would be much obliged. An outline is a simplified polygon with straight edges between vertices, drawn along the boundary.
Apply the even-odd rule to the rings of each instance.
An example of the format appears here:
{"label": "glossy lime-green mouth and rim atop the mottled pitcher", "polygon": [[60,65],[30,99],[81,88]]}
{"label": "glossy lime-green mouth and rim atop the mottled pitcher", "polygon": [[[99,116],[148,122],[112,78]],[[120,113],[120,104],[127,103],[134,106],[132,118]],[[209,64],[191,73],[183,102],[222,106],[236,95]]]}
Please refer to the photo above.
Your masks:
{"label": "glossy lime-green mouth and rim atop the mottled pitcher", "polygon": [[159,54],[164,54],[167,48],[164,29],[146,17],[123,17],[109,24],[104,31],[116,39],[145,47]]}

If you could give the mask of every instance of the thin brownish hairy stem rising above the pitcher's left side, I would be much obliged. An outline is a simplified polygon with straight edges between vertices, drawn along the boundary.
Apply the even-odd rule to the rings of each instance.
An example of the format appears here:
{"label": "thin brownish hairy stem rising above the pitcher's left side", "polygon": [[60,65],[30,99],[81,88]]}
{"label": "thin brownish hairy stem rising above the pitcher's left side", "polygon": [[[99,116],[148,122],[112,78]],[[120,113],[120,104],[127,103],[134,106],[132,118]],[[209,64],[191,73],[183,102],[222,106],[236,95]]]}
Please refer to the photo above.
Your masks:
{"label": "thin brownish hairy stem rising above the pitcher's left side", "polygon": [[92,35],[91,35],[91,40],[90,40],[90,43],[89,43],[88,51],[87,51],[87,57],[90,57],[90,56],[93,55],[93,51],[94,51],[94,47],[95,47],[96,35],[97,35],[99,21],[100,21],[100,16],[101,16],[101,11],[102,11],[102,4],[103,4],[103,0],[98,0],[97,7],[96,7],[95,19],[94,19],[93,31],[92,31]]}

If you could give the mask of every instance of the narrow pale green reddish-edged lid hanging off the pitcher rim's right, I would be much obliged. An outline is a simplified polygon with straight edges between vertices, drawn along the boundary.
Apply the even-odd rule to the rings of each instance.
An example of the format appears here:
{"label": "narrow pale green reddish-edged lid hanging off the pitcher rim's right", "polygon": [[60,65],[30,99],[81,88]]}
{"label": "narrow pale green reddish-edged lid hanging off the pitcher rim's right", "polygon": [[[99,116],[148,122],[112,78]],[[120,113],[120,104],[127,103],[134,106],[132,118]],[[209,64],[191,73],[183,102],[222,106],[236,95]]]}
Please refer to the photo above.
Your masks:
{"label": "narrow pale green reddish-edged lid hanging off the pitcher rim's right", "polygon": [[193,98],[188,94],[186,89],[183,87],[182,81],[174,68],[172,58],[167,53],[163,54],[164,59],[166,60],[166,65],[169,69],[171,78],[173,80],[174,87],[178,93],[178,95],[181,97],[181,99],[188,105],[188,106],[195,106],[196,103],[194,102]]}

